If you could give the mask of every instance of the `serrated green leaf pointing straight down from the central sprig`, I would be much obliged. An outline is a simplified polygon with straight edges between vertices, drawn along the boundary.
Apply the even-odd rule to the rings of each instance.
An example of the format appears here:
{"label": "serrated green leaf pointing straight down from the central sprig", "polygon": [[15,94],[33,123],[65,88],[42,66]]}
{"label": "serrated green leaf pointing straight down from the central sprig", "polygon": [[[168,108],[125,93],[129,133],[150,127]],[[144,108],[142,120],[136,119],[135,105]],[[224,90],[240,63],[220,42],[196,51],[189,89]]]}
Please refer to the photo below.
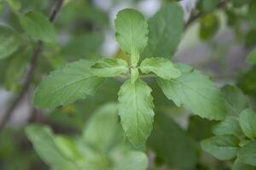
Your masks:
{"label": "serrated green leaf pointing straight down from the central sprig", "polygon": [[134,146],[141,146],[152,130],[154,117],[151,88],[146,82],[126,81],[119,90],[119,116],[125,134]]}

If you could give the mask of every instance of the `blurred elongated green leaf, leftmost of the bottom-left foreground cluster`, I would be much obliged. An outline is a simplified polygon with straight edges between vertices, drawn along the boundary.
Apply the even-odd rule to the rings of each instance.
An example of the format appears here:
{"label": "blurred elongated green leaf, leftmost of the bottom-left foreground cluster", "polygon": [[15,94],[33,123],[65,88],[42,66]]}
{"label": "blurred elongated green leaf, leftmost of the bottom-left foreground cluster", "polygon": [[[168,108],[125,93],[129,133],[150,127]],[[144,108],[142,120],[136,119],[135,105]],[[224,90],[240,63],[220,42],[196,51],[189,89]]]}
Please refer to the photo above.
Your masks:
{"label": "blurred elongated green leaf, leftmost of the bottom-left foreground cluster", "polygon": [[33,148],[37,151],[38,155],[51,167],[64,170],[76,169],[73,162],[61,154],[49,127],[31,125],[26,127],[26,136],[32,141]]}

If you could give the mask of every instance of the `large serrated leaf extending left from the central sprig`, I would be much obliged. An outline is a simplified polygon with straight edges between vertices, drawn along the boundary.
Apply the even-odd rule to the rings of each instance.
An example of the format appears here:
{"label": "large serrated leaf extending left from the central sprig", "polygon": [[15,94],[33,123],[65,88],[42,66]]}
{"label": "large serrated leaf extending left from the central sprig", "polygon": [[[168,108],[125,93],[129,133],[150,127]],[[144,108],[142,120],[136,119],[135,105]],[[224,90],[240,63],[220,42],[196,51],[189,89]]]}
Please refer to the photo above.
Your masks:
{"label": "large serrated leaf extending left from the central sprig", "polygon": [[39,83],[33,95],[38,108],[55,108],[95,94],[103,78],[95,77],[90,71],[93,61],[80,59],[52,71]]}

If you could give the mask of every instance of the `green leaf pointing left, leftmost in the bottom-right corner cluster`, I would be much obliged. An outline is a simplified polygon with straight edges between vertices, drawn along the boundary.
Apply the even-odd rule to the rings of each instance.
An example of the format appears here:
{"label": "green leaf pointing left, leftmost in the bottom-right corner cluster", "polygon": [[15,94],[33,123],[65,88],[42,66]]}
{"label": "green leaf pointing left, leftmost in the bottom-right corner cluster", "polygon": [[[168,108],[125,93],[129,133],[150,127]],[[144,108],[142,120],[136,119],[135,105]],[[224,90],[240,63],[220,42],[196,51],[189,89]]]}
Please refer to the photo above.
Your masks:
{"label": "green leaf pointing left, leftmost in the bottom-right corner cluster", "polygon": [[239,149],[239,139],[233,135],[213,136],[203,140],[201,147],[219,160],[230,160],[236,157],[236,152]]}

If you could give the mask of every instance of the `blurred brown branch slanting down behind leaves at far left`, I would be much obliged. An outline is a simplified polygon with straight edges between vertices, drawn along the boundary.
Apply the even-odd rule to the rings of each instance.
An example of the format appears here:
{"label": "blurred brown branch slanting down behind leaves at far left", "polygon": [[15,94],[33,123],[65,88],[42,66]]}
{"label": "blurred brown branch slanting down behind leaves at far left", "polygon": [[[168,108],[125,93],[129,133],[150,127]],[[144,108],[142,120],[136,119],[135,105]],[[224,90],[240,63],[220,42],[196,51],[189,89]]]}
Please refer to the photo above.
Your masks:
{"label": "blurred brown branch slanting down behind leaves at far left", "polygon": [[[56,0],[55,1],[54,5],[51,9],[51,12],[49,14],[50,22],[54,22],[57,14],[61,10],[61,6],[62,6],[63,2],[64,2],[64,0]],[[12,105],[9,106],[7,111],[5,113],[3,113],[3,119],[2,119],[2,122],[0,122],[0,130],[9,121],[9,118],[12,116],[12,113],[15,111],[16,106],[20,104],[20,100],[23,99],[27,90],[30,88],[30,85],[31,85],[32,79],[33,79],[33,75],[34,75],[34,71],[36,70],[36,68],[38,66],[38,59],[43,51],[43,48],[44,48],[44,42],[38,41],[37,47],[34,49],[34,51],[32,53],[32,58],[30,61],[30,69],[29,69],[29,71],[27,71],[26,79],[25,79],[25,82],[20,90],[20,94],[18,94],[18,96],[15,98]]]}

